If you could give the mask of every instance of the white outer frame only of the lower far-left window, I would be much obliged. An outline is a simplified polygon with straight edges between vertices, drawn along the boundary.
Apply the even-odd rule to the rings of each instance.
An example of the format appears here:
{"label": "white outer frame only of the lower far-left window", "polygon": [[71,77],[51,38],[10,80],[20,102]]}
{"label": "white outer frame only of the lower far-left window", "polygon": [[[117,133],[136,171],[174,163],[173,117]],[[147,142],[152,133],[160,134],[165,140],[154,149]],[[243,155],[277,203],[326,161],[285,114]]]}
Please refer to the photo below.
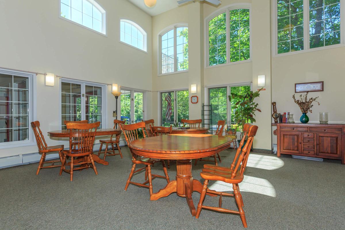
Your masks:
{"label": "white outer frame only of the lower far-left window", "polygon": [[28,85],[28,95],[29,95],[29,120],[28,120],[28,140],[23,141],[11,141],[11,142],[4,142],[0,143],[0,149],[7,149],[7,148],[15,148],[15,147],[22,147],[22,146],[32,146],[36,145],[36,139],[33,134],[33,130],[31,128],[30,123],[36,120],[36,74],[22,72],[17,70],[9,70],[9,69],[2,69],[0,68],[0,73],[8,74],[8,75],[15,75],[20,77],[27,77],[29,79]]}

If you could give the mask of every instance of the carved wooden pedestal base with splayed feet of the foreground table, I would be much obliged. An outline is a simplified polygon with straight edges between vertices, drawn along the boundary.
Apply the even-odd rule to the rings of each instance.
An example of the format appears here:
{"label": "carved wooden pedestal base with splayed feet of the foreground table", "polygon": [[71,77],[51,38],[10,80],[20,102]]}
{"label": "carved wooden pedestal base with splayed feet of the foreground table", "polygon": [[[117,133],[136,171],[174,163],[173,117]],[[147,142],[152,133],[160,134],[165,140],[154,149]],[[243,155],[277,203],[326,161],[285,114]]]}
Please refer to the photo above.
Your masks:
{"label": "carved wooden pedestal base with splayed feet of the foreground table", "polygon": [[[192,216],[196,215],[196,209],[193,203],[193,191],[201,193],[203,185],[198,180],[194,180],[192,176],[192,160],[177,160],[176,162],[176,180],[170,181],[164,189],[151,195],[150,200],[158,200],[162,197],[167,197],[171,193],[176,192],[177,196],[185,197]],[[210,191],[207,189],[207,191]],[[206,193],[209,196],[216,195]]]}

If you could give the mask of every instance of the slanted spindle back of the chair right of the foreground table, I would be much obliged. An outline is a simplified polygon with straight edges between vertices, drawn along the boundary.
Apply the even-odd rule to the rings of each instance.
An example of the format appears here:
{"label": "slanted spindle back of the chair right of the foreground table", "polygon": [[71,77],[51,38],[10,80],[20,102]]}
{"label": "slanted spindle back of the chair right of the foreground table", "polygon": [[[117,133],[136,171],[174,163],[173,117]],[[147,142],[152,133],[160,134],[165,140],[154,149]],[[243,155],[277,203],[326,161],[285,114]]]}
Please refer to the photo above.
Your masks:
{"label": "slanted spindle back of the chair right of the foreground table", "polygon": [[[250,149],[252,149],[254,136],[257,130],[258,130],[258,127],[252,124],[247,123],[244,125],[243,138],[241,142],[239,143],[239,147],[237,148],[234,161],[233,163],[231,163],[231,167],[230,167],[232,170],[231,179],[235,178],[238,170],[240,170],[239,171],[240,175],[243,176],[244,170],[246,169],[246,166],[247,166]],[[245,142],[246,137],[248,137],[248,139],[245,146],[242,149],[242,146]]]}

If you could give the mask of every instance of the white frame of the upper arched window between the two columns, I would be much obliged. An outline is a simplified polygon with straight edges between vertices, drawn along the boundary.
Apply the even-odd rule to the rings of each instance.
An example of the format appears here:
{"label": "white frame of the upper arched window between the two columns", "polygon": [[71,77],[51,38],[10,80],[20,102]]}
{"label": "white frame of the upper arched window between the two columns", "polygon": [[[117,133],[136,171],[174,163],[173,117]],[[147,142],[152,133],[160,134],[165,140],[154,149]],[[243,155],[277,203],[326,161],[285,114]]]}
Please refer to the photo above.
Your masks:
{"label": "white frame of the upper arched window between the two columns", "polygon": [[[238,10],[238,9],[248,9],[249,10],[249,56],[250,58],[242,61],[230,62],[230,20],[229,20],[229,11]],[[226,63],[217,64],[210,66],[209,65],[209,21],[217,17],[218,15],[226,13]],[[213,12],[207,16],[204,20],[204,56],[205,56],[205,69],[214,68],[219,66],[228,66],[233,64],[245,63],[252,61],[252,4],[251,3],[235,3],[219,10]]]}

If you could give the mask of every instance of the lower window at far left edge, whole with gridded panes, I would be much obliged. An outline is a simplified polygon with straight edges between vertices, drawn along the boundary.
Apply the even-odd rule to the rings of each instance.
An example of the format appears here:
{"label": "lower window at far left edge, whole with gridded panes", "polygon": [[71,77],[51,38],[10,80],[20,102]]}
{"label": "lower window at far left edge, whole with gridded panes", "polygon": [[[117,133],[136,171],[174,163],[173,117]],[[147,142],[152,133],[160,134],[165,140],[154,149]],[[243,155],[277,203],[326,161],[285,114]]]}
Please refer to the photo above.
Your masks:
{"label": "lower window at far left edge, whole with gridded panes", "polygon": [[30,141],[31,90],[32,74],[0,69],[0,146]]}

